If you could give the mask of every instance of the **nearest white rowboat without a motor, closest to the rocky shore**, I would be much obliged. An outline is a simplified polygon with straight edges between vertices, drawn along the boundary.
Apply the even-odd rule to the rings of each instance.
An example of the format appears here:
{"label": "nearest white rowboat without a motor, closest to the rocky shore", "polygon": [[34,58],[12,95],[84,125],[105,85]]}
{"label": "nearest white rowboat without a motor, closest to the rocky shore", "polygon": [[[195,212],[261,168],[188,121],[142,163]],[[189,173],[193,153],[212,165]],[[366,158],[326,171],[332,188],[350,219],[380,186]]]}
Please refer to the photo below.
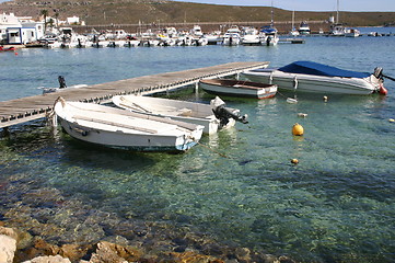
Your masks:
{"label": "nearest white rowboat without a motor, closest to the rocky shore", "polygon": [[204,126],[95,103],[58,98],[54,107],[71,137],[116,149],[183,152],[198,144]]}

